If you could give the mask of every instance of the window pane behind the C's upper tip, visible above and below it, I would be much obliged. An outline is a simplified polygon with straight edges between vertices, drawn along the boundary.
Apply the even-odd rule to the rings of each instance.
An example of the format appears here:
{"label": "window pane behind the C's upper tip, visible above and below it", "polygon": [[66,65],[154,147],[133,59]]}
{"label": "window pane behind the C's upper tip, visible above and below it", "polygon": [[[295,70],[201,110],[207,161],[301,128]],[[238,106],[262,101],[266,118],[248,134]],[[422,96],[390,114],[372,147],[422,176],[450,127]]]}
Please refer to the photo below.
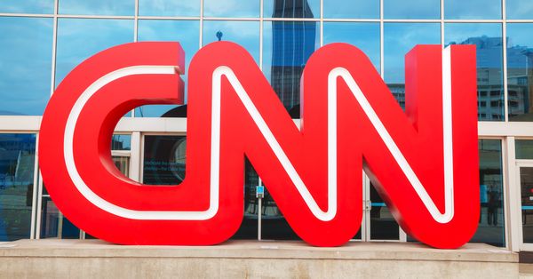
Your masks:
{"label": "window pane behind the C's upper tip, visible above and below it", "polygon": [[[178,41],[185,51],[186,68],[198,51],[200,42],[199,20],[139,20],[139,42]],[[187,74],[181,78],[187,84]],[[185,86],[187,102],[187,86]],[[135,108],[135,117],[172,117],[179,108],[173,105],[155,105]]]}

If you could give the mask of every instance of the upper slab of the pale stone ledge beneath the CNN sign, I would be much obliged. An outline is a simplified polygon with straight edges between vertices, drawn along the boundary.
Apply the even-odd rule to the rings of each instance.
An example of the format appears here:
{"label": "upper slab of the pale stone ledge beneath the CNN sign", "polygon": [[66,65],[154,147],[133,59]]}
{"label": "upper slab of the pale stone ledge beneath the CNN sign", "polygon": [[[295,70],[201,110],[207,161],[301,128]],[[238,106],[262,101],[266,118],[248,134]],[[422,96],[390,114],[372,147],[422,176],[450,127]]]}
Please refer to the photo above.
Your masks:
{"label": "upper slab of the pale stone ledge beneath the CNN sign", "polygon": [[340,247],[313,247],[295,241],[228,241],[214,246],[115,245],[100,240],[20,240],[0,243],[0,257],[132,257],[246,259],[402,259],[518,262],[518,254],[484,243],[457,250],[421,243],[351,242]]}

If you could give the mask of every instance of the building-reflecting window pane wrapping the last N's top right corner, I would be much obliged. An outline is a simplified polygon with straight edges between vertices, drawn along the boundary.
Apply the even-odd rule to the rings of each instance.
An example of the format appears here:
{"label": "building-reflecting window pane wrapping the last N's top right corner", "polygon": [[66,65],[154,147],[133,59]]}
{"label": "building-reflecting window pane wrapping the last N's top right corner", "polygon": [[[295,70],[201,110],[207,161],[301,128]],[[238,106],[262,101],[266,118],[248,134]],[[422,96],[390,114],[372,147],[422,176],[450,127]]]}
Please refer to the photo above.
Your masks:
{"label": "building-reflecting window pane wrapping the last N's top right corner", "polygon": [[501,24],[447,23],[444,38],[446,45],[476,45],[478,119],[505,120]]}

